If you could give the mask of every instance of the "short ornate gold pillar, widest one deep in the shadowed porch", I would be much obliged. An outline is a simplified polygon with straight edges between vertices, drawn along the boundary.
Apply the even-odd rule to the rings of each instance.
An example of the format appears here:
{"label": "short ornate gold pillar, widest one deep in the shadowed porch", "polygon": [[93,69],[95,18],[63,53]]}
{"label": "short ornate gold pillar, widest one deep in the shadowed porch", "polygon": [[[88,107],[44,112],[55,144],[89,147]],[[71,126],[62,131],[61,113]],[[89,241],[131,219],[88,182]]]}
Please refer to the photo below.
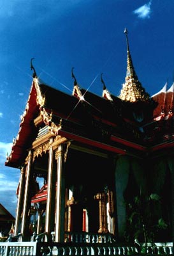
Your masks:
{"label": "short ornate gold pillar, widest one deep in the shadowed porch", "polygon": [[106,214],[106,194],[98,193],[96,199],[99,200],[99,233],[108,233],[107,214]]}

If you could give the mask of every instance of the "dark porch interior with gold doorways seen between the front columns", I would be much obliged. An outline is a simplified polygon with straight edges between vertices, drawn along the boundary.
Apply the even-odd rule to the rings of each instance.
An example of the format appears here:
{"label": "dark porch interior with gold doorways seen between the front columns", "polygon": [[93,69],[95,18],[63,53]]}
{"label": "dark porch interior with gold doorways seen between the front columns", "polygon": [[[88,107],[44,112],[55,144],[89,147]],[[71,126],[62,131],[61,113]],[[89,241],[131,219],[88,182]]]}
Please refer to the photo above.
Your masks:
{"label": "dark porch interior with gold doorways seen between the front columns", "polygon": [[[95,163],[95,165],[94,165]],[[33,173],[43,178],[43,186],[32,197],[37,205],[37,234],[45,232],[44,215],[47,211],[48,154],[35,158]],[[56,172],[56,161],[53,168]],[[53,173],[53,175],[55,175]],[[112,188],[112,170],[108,158],[69,148],[64,164],[65,177],[65,232],[108,233],[109,204],[108,189]],[[41,185],[41,184],[40,184]],[[55,187],[56,190],[57,186]],[[55,193],[55,199],[57,195]],[[53,202],[53,204],[55,204]],[[110,202],[113,205],[113,202]],[[110,205],[109,204],[109,205]],[[54,211],[56,214],[56,204]],[[113,209],[112,209],[113,211]],[[52,220],[52,232],[55,220]]]}

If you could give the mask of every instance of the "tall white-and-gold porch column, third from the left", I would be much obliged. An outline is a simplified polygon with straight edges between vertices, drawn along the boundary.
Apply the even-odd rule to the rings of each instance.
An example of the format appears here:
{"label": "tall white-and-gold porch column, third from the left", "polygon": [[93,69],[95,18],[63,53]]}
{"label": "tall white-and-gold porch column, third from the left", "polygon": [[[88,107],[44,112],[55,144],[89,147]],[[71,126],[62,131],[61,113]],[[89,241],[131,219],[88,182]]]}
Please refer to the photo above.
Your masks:
{"label": "tall white-and-gold porch column, third from the left", "polygon": [[[52,145],[53,138],[50,139]],[[48,190],[47,207],[45,214],[45,232],[50,234],[54,231],[55,222],[55,170],[54,170],[54,150],[50,147],[48,159]]]}

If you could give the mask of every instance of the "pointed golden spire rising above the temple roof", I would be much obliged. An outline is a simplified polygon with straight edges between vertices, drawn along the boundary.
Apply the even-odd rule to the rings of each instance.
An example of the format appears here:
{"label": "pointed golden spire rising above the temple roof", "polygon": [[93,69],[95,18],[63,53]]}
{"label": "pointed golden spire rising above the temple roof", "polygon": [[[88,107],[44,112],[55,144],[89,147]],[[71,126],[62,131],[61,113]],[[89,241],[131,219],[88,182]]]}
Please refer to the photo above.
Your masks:
{"label": "pointed golden spire rising above the temple roof", "polygon": [[127,43],[127,72],[125,83],[122,84],[122,90],[120,92],[119,98],[130,102],[149,101],[150,96],[148,93],[145,92],[145,89],[141,86],[141,83],[140,81],[138,81],[138,77],[136,76],[136,72],[134,71],[133,61],[129,51],[127,33],[127,29],[125,28],[124,34],[126,35]]}

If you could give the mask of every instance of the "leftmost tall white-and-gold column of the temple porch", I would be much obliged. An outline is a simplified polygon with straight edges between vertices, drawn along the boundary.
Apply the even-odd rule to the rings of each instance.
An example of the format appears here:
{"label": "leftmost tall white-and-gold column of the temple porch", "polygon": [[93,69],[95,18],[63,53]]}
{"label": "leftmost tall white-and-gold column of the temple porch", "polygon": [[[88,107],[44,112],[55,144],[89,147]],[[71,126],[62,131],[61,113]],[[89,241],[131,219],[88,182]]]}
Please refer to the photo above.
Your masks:
{"label": "leftmost tall white-and-gold column of the temple porch", "polygon": [[24,204],[24,188],[25,188],[25,169],[20,170],[20,182],[18,191],[17,214],[15,221],[15,236],[20,232],[22,206]]}

